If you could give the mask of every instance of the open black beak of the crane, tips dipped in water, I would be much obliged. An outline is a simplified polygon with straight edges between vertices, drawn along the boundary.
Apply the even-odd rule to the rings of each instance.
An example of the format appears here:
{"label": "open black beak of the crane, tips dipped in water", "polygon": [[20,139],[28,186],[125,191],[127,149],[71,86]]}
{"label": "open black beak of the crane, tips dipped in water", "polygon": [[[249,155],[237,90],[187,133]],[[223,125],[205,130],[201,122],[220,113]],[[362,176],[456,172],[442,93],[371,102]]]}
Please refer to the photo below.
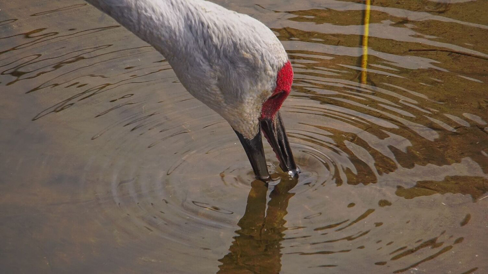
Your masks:
{"label": "open black beak of the crane, tips dipped in water", "polygon": [[268,168],[266,166],[266,158],[264,157],[261,129],[263,130],[268,143],[273,148],[273,151],[275,151],[276,157],[280,160],[281,169],[292,177],[297,176],[298,169],[296,168],[295,160],[291,153],[290,144],[288,143],[288,138],[283,126],[283,120],[281,119],[280,112],[278,112],[274,119],[260,119],[258,133],[251,140],[244,138],[239,132],[234,130],[248,155],[256,178],[262,181],[270,180]]}

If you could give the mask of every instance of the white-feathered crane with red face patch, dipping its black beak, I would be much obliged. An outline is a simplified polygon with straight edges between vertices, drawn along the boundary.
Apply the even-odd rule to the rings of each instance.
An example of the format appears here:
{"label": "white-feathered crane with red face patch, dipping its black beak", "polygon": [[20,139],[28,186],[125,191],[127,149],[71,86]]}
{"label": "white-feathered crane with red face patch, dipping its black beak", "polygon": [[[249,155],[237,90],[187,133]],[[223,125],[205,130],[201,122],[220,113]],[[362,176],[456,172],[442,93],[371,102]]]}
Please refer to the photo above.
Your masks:
{"label": "white-feathered crane with red face patch, dipping its black beak", "polygon": [[86,0],[158,50],[181,84],[236,132],[257,179],[269,180],[261,130],[280,167],[297,167],[280,108],[293,70],[258,20],[203,0]]}

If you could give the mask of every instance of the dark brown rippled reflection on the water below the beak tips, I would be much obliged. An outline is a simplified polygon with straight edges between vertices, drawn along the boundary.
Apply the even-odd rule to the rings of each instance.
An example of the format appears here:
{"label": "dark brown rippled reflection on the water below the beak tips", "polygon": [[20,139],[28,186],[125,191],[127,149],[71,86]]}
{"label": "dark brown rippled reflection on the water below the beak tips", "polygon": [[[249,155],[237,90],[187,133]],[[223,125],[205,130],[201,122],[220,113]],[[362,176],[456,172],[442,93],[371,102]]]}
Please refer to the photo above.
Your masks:
{"label": "dark brown rippled reflection on the water below the beak tips", "polygon": [[229,253],[219,261],[217,272],[230,273],[279,273],[281,271],[282,246],[285,233],[285,216],[289,191],[297,180],[283,178],[271,191],[266,209],[267,184],[254,181],[248,195],[246,212],[237,225]]}

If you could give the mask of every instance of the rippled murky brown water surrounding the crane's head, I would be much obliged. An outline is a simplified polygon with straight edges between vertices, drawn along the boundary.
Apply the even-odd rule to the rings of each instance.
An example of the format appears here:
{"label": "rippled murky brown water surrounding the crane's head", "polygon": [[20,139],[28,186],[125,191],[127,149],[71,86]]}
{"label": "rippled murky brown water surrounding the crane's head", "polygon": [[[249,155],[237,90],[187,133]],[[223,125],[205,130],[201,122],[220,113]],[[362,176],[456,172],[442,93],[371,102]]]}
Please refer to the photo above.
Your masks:
{"label": "rippled murky brown water surrounding the crane's head", "polygon": [[93,7],[4,1],[1,272],[488,273],[488,2],[374,0],[367,60],[363,2],[218,3],[289,53],[299,180]]}

